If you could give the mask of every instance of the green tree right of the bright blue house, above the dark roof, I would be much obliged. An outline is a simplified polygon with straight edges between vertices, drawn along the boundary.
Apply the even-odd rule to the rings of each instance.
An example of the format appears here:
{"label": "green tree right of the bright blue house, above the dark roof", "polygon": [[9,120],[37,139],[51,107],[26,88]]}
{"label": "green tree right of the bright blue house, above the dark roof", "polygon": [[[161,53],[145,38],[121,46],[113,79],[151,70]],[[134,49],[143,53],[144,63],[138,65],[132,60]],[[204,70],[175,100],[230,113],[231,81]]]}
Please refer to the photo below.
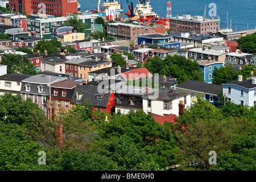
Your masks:
{"label": "green tree right of the bright blue house, above the dark roof", "polygon": [[214,68],[212,73],[212,83],[221,85],[226,82],[234,81],[238,79],[240,71],[236,71],[232,65],[227,65],[226,67]]}

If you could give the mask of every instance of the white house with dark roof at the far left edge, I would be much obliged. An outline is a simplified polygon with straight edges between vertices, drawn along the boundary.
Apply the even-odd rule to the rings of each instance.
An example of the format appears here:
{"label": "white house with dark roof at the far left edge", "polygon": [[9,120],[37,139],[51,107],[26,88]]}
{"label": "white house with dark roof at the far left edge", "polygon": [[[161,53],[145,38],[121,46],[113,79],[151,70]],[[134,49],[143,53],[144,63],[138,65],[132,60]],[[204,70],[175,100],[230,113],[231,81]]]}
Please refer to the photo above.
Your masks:
{"label": "white house with dark roof at the far left edge", "polygon": [[22,80],[29,77],[31,77],[31,75],[23,75],[18,73],[0,76],[0,95],[4,93],[19,94],[22,88]]}

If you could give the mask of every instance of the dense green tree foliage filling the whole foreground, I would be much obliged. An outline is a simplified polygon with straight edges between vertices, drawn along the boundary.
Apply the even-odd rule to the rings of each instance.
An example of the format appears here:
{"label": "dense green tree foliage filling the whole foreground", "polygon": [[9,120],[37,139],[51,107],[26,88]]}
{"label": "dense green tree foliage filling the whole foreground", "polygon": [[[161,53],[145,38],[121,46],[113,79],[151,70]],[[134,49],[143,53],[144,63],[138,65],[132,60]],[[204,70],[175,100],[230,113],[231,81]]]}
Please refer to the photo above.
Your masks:
{"label": "dense green tree foliage filling the whole foreground", "polygon": [[[176,123],[162,126],[143,110],[110,116],[89,102],[47,119],[31,100],[5,94],[0,170],[255,170],[256,108],[197,100]],[[46,165],[38,163],[39,151]],[[209,151],[216,151],[217,164],[208,163]]]}

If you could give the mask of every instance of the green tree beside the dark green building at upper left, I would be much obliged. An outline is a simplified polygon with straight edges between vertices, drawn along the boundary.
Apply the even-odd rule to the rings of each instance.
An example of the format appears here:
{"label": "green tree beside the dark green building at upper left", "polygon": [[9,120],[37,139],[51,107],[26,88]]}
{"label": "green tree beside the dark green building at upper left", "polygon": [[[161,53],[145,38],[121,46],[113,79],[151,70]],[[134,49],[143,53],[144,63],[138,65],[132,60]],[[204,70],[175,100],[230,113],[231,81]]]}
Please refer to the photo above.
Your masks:
{"label": "green tree beside the dark green building at upper left", "polygon": [[86,29],[89,28],[88,24],[82,23],[82,21],[78,18],[77,15],[69,16],[67,22],[64,23],[65,26],[73,27],[73,31],[85,33]]}

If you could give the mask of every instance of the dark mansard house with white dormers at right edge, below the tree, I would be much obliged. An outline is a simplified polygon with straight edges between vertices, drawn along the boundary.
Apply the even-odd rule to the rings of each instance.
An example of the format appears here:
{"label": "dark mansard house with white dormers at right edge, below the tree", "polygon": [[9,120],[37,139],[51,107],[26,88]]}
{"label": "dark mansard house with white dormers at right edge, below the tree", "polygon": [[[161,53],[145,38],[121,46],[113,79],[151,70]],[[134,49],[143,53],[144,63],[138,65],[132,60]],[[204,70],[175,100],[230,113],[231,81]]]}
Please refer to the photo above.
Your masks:
{"label": "dark mansard house with white dormers at right edge, below the tree", "polygon": [[255,64],[253,59],[253,54],[238,52],[229,52],[226,55],[225,65],[232,65],[236,70],[242,69],[247,64]]}

